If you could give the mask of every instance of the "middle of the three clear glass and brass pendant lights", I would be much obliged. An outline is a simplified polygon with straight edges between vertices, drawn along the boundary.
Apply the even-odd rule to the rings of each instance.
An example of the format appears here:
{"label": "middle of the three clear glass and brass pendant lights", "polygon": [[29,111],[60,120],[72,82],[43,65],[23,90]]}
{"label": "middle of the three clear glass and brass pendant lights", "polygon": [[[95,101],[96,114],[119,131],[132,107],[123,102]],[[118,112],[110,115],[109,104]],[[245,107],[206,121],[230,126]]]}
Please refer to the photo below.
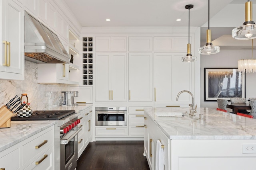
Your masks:
{"label": "middle of the three clear glass and brass pendant lights", "polygon": [[210,30],[210,0],[208,0],[208,29],[206,30],[206,45],[198,49],[199,54],[210,55],[220,52],[219,46],[212,45],[212,33]]}

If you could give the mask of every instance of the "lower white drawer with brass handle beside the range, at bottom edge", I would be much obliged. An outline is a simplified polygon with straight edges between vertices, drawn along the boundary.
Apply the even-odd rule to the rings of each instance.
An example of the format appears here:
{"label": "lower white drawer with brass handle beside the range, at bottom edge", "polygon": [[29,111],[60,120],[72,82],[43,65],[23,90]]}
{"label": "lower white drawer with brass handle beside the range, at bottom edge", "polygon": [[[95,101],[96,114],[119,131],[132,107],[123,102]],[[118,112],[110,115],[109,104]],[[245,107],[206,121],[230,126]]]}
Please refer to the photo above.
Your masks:
{"label": "lower white drawer with brass handle beside the range, at bottom edge", "polygon": [[[24,170],[53,170],[53,147],[44,152],[42,155],[38,156],[28,167]],[[46,157],[47,156],[47,157]],[[39,163],[39,164],[36,164]]]}

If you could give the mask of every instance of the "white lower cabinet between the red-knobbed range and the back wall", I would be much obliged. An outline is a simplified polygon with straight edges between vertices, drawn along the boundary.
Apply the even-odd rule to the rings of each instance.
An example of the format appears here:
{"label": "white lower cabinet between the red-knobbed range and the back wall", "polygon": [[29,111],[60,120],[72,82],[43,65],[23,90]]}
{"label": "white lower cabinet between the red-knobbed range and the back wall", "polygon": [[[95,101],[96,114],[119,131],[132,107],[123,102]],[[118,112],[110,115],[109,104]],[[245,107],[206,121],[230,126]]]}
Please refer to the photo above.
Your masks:
{"label": "white lower cabinet between the red-knobbed range and the back wall", "polygon": [[[78,113],[79,114],[79,113]],[[82,131],[78,133],[78,158],[81,156],[88,143],[92,141],[92,107],[89,107],[80,112],[79,126],[82,126]]]}

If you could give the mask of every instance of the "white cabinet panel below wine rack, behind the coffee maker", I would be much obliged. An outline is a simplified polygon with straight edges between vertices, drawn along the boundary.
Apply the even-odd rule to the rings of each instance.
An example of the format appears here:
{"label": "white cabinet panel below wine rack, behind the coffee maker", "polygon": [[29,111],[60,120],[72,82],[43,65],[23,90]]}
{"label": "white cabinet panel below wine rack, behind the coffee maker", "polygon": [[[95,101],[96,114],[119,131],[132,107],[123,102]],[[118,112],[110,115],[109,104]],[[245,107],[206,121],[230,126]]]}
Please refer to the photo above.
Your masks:
{"label": "white cabinet panel below wine rack, behind the coffee maker", "polygon": [[74,103],[92,104],[92,87],[70,86],[70,91],[78,91],[78,96],[74,98]]}

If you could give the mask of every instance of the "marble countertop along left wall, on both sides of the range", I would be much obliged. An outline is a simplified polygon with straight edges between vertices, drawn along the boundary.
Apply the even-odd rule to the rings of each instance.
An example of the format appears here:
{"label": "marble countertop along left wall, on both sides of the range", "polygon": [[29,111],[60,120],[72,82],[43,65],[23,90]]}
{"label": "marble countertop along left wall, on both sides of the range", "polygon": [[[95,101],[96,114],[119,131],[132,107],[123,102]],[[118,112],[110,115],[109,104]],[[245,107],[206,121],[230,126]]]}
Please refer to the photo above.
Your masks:
{"label": "marble countertop along left wall, on both sides of the range", "polygon": [[[44,110],[75,110],[76,113],[80,113],[80,111],[91,106],[92,104],[80,106],[55,106],[44,108]],[[10,128],[0,128],[0,152],[56,123],[57,121],[11,121]]]}

